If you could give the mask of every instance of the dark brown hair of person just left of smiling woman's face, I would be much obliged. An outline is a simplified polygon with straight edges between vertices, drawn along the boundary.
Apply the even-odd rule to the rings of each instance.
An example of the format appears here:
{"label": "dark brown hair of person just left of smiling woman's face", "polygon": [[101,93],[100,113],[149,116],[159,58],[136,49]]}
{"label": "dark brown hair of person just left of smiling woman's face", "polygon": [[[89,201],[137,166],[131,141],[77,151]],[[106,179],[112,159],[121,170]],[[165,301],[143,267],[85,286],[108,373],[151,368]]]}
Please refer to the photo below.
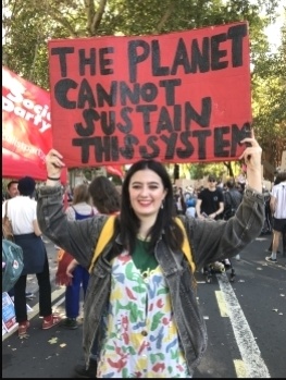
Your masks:
{"label": "dark brown hair of person just left of smiling woman's face", "polygon": [[104,175],[96,176],[88,187],[94,206],[100,213],[120,211],[120,193],[115,185]]}

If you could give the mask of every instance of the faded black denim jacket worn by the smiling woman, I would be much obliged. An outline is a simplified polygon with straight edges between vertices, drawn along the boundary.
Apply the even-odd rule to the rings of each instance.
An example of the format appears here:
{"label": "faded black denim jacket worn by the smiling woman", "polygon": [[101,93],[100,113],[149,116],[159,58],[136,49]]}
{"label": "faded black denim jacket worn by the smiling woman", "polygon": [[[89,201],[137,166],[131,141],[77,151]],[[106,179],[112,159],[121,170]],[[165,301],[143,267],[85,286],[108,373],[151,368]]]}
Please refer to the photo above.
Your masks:
{"label": "faded black denim jacket worn by the smiling woman", "polygon": [[[89,268],[107,216],[67,221],[62,207],[61,187],[42,186],[37,203],[37,218],[46,236],[71,253],[83,267]],[[245,191],[235,217],[228,221],[183,217],[197,270],[237,255],[260,234],[263,221],[263,195],[250,188]],[[120,235],[116,236],[115,244],[121,245]],[[111,263],[107,256],[111,246],[112,243],[109,243],[96,261],[85,298],[83,345],[87,364],[94,340],[100,341],[101,318],[109,303]],[[207,348],[208,339],[196,298],[194,273],[183,253],[171,252],[161,238],[157,243],[154,255],[170,289],[178,335],[192,373]]]}

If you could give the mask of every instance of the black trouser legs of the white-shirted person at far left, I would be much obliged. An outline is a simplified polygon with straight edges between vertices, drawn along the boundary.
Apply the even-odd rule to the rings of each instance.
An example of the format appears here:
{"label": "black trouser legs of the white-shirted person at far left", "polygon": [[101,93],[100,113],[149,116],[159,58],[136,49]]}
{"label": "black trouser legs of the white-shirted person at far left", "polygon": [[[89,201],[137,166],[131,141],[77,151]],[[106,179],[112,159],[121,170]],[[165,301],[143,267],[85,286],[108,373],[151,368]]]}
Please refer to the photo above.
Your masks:
{"label": "black trouser legs of the white-shirted person at far left", "polygon": [[[43,270],[41,273],[36,273],[36,277],[39,285],[39,316],[48,317],[52,314],[52,307],[50,270],[47,255]],[[26,282],[27,274],[24,274],[18,278],[17,282],[14,285],[14,307],[17,323],[22,323],[27,320]]]}

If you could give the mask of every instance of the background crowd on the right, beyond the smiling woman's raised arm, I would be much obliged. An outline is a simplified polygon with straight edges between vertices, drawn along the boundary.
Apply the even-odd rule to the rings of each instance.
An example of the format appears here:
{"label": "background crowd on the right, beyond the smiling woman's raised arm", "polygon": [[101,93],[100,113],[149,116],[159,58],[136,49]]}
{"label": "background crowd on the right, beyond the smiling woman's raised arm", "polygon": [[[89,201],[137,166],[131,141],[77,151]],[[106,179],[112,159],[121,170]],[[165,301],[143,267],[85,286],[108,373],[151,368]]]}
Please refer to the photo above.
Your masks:
{"label": "background crowd on the right, beyond the smiling woman's raised arm", "polygon": [[[266,261],[277,262],[277,253],[286,256],[286,171],[275,173],[272,188],[262,187],[264,195],[264,222],[261,235],[272,234],[272,240],[265,257]],[[209,218],[227,220],[233,217],[243,200],[245,183],[228,179],[225,183],[214,174],[208,176],[207,186],[183,189],[174,186],[174,208],[177,214],[192,218]],[[239,260],[239,254],[236,255]],[[220,267],[220,266],[219,266]]]}

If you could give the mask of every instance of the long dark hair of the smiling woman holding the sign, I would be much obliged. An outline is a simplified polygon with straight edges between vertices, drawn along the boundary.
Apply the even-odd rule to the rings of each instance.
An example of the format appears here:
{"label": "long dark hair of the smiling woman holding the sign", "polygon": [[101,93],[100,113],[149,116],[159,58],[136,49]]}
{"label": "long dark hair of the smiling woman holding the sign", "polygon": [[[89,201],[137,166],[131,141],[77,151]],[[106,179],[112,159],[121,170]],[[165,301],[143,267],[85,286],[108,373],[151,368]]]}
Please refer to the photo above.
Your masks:
{"label": "long dark hair of the smiling woman holding the sign", "polygon": [[123,245],[126,249],[129,249],[130,253],[133,253],[136,245],[136,236],[140,228],[140,220],[130,205],[129,183],[132,176],[136,172],[146,169],[157,173],[166,189],[166,196],[163,201],[164,207],[159,209],[156,223],[148,232],[150,252],[153,252],[161,236],[171,249],[179,249],[183,243],[183,233],[174,221],[173,185],[164,166],[154,160],[140,160],[135,162],[128,170],[123,182],[120,216]]}

